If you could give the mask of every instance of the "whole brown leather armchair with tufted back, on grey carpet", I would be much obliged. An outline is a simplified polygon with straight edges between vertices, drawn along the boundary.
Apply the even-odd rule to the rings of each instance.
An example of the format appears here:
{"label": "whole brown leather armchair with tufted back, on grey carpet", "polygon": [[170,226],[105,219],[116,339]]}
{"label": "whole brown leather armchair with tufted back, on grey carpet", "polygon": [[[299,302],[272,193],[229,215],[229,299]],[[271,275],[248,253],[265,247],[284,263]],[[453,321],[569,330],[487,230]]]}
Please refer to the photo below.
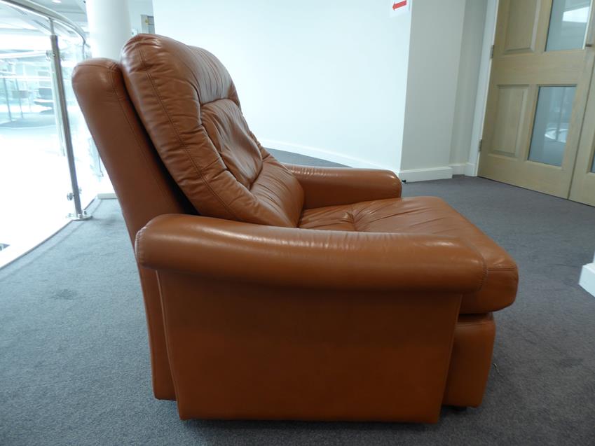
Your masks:
{"label": "whole brown leather armchair with tufted back, on grey carpet", "polygon": [[518,276],[472,223],[392,172],[282,165],[200,48],[135,36],[73,85],[135,243],[153,390],[182,419],[481,403]]}

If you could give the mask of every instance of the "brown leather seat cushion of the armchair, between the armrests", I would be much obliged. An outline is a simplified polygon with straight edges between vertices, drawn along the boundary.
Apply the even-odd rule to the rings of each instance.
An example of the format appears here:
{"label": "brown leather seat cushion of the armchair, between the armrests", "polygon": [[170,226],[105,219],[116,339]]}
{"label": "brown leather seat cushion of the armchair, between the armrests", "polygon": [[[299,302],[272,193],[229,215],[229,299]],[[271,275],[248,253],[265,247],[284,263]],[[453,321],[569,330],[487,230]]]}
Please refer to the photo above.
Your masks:
{"label": "brown leather seat cushion of the armchair, between the armrests", "polygon": [[517,294],[514,260],[490,237],[436,197],[374,200],[303,211],[300,228],[360,232],[404,232],[460,237],[484,257],[486,278],[476,293],[463,296],[461,314],[480,314],[507,307]]}

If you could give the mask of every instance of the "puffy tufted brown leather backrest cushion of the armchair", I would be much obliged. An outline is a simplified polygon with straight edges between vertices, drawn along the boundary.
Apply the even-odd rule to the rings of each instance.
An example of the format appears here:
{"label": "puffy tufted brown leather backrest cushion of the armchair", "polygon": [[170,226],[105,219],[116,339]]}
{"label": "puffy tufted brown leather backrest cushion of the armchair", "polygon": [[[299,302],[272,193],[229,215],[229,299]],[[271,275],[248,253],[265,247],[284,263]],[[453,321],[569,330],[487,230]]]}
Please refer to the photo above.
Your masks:
{"label": "puffy tufted brown leather backrest cushion of the armchair", "polygon": [[303,190],[250,132],[211,53],[139,34],[122,50],[126,87],[165,167],[204,216],[295,227]]}

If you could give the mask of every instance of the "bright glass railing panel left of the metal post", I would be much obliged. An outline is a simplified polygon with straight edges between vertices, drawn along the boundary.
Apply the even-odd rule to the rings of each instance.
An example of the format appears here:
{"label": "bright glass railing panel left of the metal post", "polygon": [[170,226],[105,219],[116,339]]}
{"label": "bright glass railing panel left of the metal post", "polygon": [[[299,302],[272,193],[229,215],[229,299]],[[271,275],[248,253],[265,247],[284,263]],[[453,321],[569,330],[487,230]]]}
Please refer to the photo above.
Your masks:
{"label": "bright glass railing panel left of the metal post", "polygon": [[62,228],[74,211],[48,22],[34,19],[0,4],[0,266]]}

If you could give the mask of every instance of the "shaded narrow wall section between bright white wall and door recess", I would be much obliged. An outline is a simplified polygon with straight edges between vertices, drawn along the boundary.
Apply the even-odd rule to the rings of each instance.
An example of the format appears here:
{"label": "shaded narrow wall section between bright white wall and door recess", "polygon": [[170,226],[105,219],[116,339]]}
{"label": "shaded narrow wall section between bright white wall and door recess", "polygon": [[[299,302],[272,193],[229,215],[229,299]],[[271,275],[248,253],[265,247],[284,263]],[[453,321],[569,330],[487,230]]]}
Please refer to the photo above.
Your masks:
{"label": "shaded narrow wall section between bright white wall and door recess", "polygon": [[465,0],[414,1],[402,160],[407,181],[450,178]]}

